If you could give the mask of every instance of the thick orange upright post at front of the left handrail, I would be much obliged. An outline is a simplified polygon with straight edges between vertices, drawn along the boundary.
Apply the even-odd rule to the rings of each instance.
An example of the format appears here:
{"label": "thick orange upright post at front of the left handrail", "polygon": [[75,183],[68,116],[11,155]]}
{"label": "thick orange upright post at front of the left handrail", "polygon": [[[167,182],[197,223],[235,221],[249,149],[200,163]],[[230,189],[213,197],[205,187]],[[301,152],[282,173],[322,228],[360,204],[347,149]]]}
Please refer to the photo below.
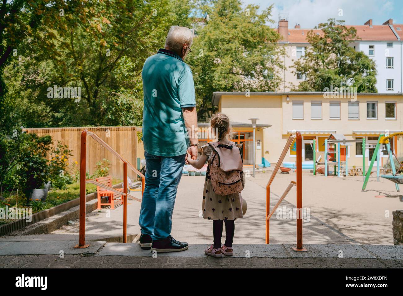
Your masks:
{"label": "thick orange upright post at front of the left handrail", "polygon": [[80,154],[80,226],[79,244],[75,248],[87,248],[85,244],[85,166],[87,162],[87,130],[81,132],[81,154]]}

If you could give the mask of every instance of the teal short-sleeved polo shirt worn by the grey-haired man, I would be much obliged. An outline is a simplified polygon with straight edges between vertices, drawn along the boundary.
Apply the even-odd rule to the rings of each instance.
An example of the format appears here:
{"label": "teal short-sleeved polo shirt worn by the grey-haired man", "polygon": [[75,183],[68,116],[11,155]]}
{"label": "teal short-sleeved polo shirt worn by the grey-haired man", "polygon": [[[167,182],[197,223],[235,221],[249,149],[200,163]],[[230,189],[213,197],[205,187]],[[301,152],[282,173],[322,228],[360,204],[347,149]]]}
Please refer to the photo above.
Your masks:
{"label": "teal short-sleeved polo shirt worn by the grey-haired man", "polygon": [[161,48],[145,60],[141,77],[145,152],[159,156],[185,154],[189,139],[182,108],[196,106],[190,67],[176,53]]}

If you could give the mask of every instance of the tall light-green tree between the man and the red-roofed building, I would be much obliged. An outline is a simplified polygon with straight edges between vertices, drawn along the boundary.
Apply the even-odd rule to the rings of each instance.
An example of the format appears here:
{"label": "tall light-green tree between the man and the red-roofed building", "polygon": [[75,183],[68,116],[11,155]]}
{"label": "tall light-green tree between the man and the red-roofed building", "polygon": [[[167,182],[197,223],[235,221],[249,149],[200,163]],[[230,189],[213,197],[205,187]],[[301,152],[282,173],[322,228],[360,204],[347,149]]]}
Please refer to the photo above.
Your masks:
{"label": "tall light-green tree between the man and the red-roofed building", "polygon": [[278,33],[266,23],[272,6],[241,7],[239,0],[197,3],[204,27],[196,29],[192,53],[186,62],[195,81],[197,114],[210,117],[214,91],[274,91],[280,84],[276,41]]}

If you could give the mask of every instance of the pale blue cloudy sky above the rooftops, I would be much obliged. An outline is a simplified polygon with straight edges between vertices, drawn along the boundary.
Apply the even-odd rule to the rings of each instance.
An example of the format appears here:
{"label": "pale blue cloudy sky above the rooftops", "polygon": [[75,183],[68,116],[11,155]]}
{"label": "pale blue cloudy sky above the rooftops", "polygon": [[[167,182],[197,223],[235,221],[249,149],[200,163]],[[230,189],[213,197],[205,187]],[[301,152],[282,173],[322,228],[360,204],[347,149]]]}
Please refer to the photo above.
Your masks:
{"label": "pale blue cloudy sky above the rooftops", "polygon": [[[345,20],[346,25],[364,25],[372,19],[374,25],[382,25],[386,20],[403,23],[403,0],[241,0],[244,4],[267,8],[274,4],[273,27],[277,26],[278,14],[289,14],[289,27],[299,23],[301,28],[313,28],[327,19]],[[339,16],[339,14],[343,14]]]}

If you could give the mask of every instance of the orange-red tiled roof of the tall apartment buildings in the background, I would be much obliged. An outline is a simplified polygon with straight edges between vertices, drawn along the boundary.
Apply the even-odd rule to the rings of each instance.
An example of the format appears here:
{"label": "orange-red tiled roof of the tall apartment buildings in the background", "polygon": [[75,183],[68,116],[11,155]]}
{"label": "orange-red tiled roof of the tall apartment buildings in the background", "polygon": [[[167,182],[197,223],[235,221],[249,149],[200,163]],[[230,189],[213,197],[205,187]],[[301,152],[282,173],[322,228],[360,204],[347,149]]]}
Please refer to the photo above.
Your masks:
{"label": "orange-red tiled roof of the tall apartment buildings in the background", "polygon": [[[347,28],[355,27],[357,30],[357,36],[360,40],[368,41],[393,41],[397,40],[396,35],[388,25],[346,25]],[[393,25],[395,31],[398,33],[401,39],[403,39],[403,25]],[[401,31],[397,31],[397,27],[401,28]],[[307,40],[307,33],[313,30],[314,33],[322,35],[322,30],[319,29],[288,29],[288,42],[289,43],[309,43]]]}

